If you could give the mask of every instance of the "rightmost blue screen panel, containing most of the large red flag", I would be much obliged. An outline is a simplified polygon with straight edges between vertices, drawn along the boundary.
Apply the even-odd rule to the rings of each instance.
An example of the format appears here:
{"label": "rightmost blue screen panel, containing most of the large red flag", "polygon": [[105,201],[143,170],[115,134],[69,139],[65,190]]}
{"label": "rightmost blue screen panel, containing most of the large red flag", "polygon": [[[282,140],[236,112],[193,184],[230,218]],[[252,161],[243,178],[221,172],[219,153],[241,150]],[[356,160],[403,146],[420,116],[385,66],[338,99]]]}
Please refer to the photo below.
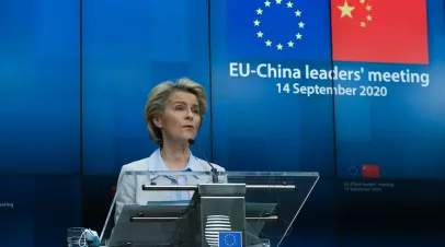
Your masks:
{"label": "rightmost blue screen panel, containing most of the large red flag", "polygon": [[[366,27],[345,24],[362,30],[356,35],[340,31],[340,10],[332,16],[340,31],[332,44],[341,60],[333,64],[361,78],[334,81],[335,86],[357,89],[356,96],[335,97],[338,175],[445,178],[443,1],[414,0],[397,14],[389,12],[400,7],[398,1],[374,2],[370,11],[361,7],[373,15]],[[369,27],[374,30],[365,32]],[[347,49],[365,51],[340,55]]]}

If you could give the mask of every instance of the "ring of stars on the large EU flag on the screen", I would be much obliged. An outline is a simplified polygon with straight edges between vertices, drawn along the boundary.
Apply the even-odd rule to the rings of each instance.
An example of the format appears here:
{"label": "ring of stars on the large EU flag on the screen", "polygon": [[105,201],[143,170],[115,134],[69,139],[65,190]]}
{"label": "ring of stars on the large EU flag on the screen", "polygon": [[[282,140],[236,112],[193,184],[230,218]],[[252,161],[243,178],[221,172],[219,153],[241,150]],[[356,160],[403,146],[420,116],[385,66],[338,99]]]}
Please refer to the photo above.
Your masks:
{"label": "ring of stars on the large EU flag on the screen", "polygon": [[[282,4],[283,3],[283,4]],[[265,37],[265,34],[261,31],[261,21],[260,17],[263,15],[264,11],[266,11],[267,8],[271,8],[272,4],[275,5],[283,5],[286,9],[289,9],[293,11],[293,14],[295,14],[296,17],[301,17],[303,12],[299,10],[296,10],[294,8],[294,3],[292,1],[287,1],[287,2],[283,2],[283,0],[265,0],[264,2],[264,7],[260,7],[255,10],[256,12],[256,19],[253,21],[253,26],[258,26],[259,27],[259,32],[256,33],[256,37],[261,38],[261,39],[265,39],[264,40],[264,45],[266,47],[275,47],[276,50],[283,50],[285,48],[294,48],[295,46],[295,42],[298,42],[303,38],[303,34],[300,34],[299,32],[297,32],[295,34],[295,37],[293,37],[292,39],[288,39],[284,43],[276,43],[274,44],[270,38]],[[300,21],[298,23],[298,28],[299,30],[304,30],[305,28],[306,23],[304,23],[303,21]]]}

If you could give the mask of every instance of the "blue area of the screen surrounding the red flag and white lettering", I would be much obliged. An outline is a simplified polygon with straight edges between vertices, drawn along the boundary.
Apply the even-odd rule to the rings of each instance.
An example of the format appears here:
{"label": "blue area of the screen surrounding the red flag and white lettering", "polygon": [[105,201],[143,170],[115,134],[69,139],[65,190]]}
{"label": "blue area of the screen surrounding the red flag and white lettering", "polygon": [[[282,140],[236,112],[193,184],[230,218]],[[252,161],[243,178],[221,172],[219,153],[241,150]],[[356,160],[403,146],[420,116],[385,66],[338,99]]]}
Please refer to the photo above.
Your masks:
{"label": "blue area of the screen surrounding the red flag and white lettering", "polygon": [[[212,1],[214,161],[229,169],[317,170],[322,177],[361,177],[362,165],[373,164],[385,178],[444,178],[443,1],[427,2],[429,66],[332,61],[330,1],[313,4]],[[300,19],[295,19],[296,10]],[[305,28],[299,28],[300,22]],[[303,38],[292,49],[286,43],[282,51],[264,44],[289,40],[295,33]],[[267,75],[269,66],[298,68],[301,75]],[[363,68],[365,73],[358,82],[308,79],[307,68]],[[366,77],[407,70],[429,78],[423,83],[397,83]],[[294,87],[313,85],[357,91],[355,96],[308,96]]]}

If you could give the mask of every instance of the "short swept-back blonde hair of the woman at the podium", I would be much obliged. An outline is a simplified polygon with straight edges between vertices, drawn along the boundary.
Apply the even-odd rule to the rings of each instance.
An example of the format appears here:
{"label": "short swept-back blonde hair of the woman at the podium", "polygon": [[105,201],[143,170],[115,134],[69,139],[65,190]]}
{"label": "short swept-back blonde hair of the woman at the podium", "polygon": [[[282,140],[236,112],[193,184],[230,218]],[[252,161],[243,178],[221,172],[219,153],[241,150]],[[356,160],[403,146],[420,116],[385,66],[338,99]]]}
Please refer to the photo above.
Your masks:
{"label": "short swept-back blonde hair of the woman at the podium", "polygon": [[166,81],[155,86],[148,95],[145,106],[145,121],[151,140],[159,145],[162,145],[162,131],[155,126],[153,117],[163,111],[173,92],[187,92],[196,96],[201,124],[207,110],[207,96],[204,87],[187,78],[179,79],[176,82]]}

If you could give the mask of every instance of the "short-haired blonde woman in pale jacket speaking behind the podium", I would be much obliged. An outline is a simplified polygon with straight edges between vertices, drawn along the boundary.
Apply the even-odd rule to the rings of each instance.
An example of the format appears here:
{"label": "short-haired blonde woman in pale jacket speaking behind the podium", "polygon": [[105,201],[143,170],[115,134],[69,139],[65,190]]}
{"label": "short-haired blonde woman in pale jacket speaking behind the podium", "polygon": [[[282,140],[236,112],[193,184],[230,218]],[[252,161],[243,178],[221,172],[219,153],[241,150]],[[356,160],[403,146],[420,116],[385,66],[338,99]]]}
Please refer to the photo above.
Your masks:
{"label": "short-haired blonde woman in pale jacket speaking behind the podium", "polygon": [[[195,176],[124,175],[126,170],[207,172],[206,161],[195,157],[189,140],[194,140],[207,109],[206,94],[199,84],[180,79],[158,84],[151,90],[145,107],[145,121],[151,140],[159,145],[149,157],[124,165],[121,170],[115,223],[125,204],[148,201],[190,200],[190,191],[144,191],[142,185],[185,185],[208,183]],[[225,169],[212,164],[218,172]]]}

